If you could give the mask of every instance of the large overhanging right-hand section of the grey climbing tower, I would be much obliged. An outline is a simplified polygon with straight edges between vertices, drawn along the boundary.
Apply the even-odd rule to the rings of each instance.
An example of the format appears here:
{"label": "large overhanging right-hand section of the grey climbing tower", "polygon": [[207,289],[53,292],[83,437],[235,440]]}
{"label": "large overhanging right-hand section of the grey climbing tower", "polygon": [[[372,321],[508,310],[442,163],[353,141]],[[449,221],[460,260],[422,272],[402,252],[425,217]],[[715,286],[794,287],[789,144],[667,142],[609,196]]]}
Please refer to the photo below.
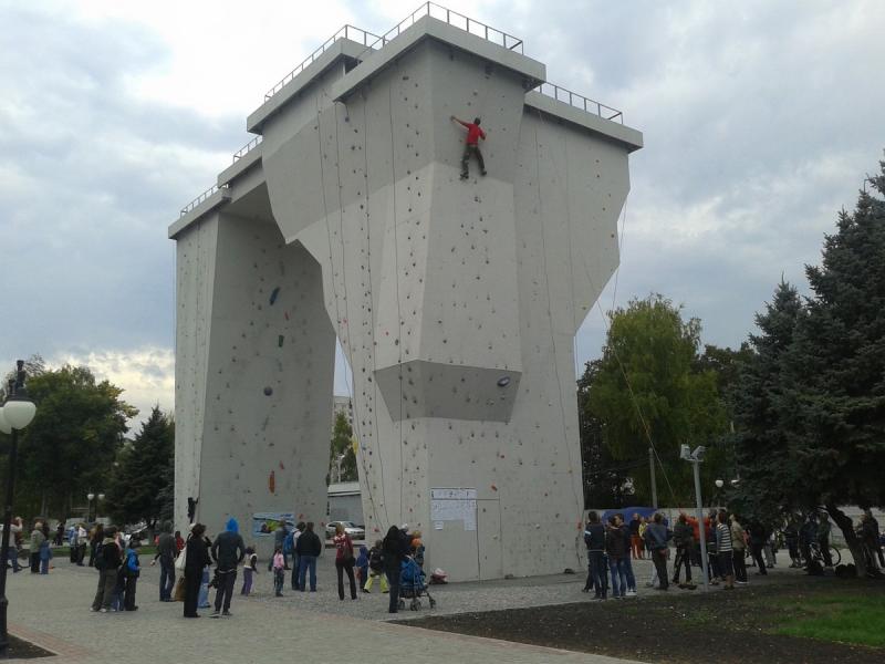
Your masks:
{"label": "large overhanging right-hand section of the grey climbing tower", "polygon": [[[408,522],[457,579],[555,572],[581,553],[573,339],[617,267],[642,135],[537,91],[545,68],[509,35],[448,18],[335,41],[249,117],[262,142],[173,231],[240,206],[319,266],[369,533]],[[485,177],[459,178],[452,115],[481,117]]]}

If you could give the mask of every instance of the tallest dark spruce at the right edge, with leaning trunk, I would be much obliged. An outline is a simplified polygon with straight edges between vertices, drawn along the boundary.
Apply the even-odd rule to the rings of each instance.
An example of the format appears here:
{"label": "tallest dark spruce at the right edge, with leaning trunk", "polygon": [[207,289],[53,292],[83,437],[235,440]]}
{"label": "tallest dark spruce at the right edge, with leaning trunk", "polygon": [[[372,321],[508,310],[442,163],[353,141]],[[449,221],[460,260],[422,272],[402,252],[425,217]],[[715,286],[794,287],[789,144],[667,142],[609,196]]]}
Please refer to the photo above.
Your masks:
{"label": "tallest dark spruce at the right edge, with leaning trunk", "polygon": [[813,295],[789,356],[800,487],[826,506],[855,562],[839,506],[885,505],[885,162],[867,184],[825,237],[821,264],[805,268]]}

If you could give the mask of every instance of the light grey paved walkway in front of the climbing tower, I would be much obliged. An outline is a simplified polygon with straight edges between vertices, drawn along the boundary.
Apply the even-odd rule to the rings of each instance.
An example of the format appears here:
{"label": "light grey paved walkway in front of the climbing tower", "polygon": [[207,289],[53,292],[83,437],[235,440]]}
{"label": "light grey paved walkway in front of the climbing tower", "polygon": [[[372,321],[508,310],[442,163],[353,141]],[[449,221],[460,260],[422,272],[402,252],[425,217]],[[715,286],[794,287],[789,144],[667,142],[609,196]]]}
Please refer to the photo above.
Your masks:
{"label": "light grey paved walkway in front of the climbing tower", "polygon": [[[133,657],[189,664],[264,664],[302,657],[312,664],[403,658],[410,664],[625,662],[383,622],[387,618],[386,595],[361,593],[356,602],[339,601],[331,560],[321,564],[319,592],[293,595],[290,591],[282,600],[272,598],[268,592],[270,575],[262,573],[256,595],[236,596],[233,616],[221,620],[210,620],[208,610],[200,620],[185,620],[180,603],[158,602],[158,572],[149,567],[144,568],[139,580],[137,612],[92,613],[88,605],[97,573],[72,568],[65,560],[56,563],[58,568],[45,577],[9,574],[9,626],[13,634],[59,653],[66,664],[118,664]],[[540,603],[584,601],[582,582],[575,577],[556,577],[450,584],[437,593],[439,603],[434,613],[459,612],[468,606],[531,605],[533,599]],[[427,614],[427,610],[406,611],[399,618]]]}

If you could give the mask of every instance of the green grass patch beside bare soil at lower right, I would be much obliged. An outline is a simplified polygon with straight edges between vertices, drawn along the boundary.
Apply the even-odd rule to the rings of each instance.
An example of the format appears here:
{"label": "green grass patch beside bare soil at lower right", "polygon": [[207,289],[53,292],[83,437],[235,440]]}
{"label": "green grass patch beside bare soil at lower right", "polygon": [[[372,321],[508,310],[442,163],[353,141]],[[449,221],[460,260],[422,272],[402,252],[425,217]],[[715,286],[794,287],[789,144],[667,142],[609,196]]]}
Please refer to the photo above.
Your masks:
{"label": "green grass patch beside bare soil at lower right", "polygon": [[814,593],[779,601],[785,615],[775,634],[885,647],[885,594]]}

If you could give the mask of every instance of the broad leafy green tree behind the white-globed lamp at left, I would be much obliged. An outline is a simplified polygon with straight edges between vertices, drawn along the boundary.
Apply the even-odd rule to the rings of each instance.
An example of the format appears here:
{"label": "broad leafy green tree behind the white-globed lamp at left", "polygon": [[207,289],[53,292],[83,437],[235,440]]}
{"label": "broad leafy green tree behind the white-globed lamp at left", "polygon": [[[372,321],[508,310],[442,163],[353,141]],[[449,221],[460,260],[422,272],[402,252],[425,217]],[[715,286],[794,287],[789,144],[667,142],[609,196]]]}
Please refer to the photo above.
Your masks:
{"label": "broad leafy green tree behind the white-globed lamp at left", "polygon": [[85,366],[30,376],[28,394],[37,415],[19,437],[17,511],[66,518],[86,492],[107,488],[126,422],[138,412]]}

